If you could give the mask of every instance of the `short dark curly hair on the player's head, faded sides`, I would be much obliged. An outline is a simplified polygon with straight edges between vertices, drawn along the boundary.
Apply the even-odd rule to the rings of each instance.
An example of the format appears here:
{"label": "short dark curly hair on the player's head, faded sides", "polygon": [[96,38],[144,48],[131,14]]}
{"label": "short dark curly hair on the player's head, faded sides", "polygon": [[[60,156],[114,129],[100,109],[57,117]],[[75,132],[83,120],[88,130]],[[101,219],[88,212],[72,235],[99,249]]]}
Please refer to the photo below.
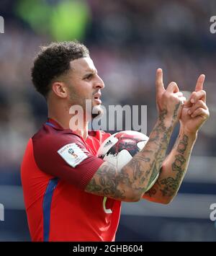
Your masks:
{"label": "short dark curly hair on the player's head, faded sides", "polygon": [[40,92],[46,99],[53,79],[67,74],[71,69],[71,61],[84,57],[89,57],[89,50],[78,41],[41,46],[31,70],[32,82],[37,92]]}

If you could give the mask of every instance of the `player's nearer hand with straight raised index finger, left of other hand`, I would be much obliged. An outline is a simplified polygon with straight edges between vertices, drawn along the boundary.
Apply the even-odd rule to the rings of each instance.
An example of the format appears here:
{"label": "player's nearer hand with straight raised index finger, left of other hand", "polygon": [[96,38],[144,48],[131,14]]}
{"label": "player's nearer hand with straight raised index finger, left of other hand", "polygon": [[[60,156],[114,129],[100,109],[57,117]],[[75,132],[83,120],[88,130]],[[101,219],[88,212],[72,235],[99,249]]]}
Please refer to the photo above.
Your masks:
{"label": "player's nearer hand with straight raised index finger, left of other hand", "polygon": [[179,87],[172,81],[167,89],[163,87],[163,71],[158,69],[156,72],[156,103],[159,116],[163,115],[167,121],[176,124],[180,118],[181,110],[186,98]]}

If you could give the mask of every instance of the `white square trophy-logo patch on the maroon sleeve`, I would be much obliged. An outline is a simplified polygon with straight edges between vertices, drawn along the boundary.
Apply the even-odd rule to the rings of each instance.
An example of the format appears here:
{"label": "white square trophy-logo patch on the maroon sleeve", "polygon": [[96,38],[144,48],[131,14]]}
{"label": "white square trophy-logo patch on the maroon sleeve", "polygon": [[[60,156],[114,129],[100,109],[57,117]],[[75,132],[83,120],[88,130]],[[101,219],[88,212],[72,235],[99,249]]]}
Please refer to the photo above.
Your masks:
{"label": "white square trophy-logo patch on the maroon sleeve", "polygon": [[71,167],[76,167],[76,165],[80,164],[88,157],[76,143],[66,144],[58,150],[58,154],[60,154]]}

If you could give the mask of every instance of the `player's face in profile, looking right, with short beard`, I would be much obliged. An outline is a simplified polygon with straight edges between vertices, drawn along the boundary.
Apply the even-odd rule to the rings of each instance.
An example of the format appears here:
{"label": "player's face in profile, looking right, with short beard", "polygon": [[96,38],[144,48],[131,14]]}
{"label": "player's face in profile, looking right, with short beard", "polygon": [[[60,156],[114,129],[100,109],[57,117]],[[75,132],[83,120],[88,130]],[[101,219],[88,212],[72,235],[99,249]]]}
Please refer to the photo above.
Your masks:
{"label": "player's face in profile, looking right, with short beard", "polygon": [[92,108],[96,108],[99,115],[102,112],[100,96],[103,88],[104,81],[97,74],[91,58],[78,58],[71,61],[68,79],[70,105],[81,105],[85,111],[86,100],[91,100]]}

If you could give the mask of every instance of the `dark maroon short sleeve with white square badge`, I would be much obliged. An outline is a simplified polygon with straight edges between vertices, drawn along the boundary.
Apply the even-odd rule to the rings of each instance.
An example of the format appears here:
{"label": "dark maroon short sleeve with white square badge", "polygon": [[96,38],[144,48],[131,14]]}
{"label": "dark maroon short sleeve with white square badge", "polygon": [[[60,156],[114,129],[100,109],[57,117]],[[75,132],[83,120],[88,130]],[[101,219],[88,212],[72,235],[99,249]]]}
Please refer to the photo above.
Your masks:
{"label": "dark maroon short sleeve with white square badge", "polygon": [[75,134],[33,136],[32,143],[35,162],[42,172],[82,190],[104,162],[91,154]]}

